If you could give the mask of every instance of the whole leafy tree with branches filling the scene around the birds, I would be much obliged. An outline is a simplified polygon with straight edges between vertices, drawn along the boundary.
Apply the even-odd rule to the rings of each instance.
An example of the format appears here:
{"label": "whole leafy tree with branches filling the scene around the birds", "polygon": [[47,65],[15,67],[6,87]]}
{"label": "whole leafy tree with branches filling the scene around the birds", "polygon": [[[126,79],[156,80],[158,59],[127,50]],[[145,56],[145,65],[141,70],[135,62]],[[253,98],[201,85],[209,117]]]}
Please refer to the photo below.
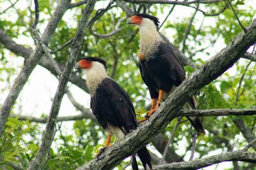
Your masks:
{"label": "whole leafy tree with branches filling the scene around the birds", "polygon": [[[0,4],[1,169],[131,169],[125,158],[143,145],[153,169],[255,169],[252,0]],[[74,64],[84,56],[106,60],[108,75],[127,91],[138,119],[143,118],[151,99],[138,67],[140,35],[125,22],[134,13],[160,19],[159,32],[184,64],[187,78],[148,121],[121,141],[112,138],[113,146],[97,155],[106,132],[90,110],[86,80]],[[24,102],[31,97],[26,87],[38,100]],[[197,110],[182,110],[191,96]],[[65,105],[71,112],[62,114]],[[188,115],[202,118],[205,135],[196,133]]]}

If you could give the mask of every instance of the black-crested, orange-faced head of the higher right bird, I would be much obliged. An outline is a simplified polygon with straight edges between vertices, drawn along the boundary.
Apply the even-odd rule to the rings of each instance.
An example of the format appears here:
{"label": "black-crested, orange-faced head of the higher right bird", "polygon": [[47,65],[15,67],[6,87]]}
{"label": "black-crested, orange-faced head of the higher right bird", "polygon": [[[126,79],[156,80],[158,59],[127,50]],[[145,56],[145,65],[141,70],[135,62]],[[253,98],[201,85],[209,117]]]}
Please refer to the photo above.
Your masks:
{"label": "black-crested, orange-faced head of the higher right bird", "polygon": [[126,20],[127,24],[138,25],[139,27],[159,27],[159,19],[145,13],[137,13]]}

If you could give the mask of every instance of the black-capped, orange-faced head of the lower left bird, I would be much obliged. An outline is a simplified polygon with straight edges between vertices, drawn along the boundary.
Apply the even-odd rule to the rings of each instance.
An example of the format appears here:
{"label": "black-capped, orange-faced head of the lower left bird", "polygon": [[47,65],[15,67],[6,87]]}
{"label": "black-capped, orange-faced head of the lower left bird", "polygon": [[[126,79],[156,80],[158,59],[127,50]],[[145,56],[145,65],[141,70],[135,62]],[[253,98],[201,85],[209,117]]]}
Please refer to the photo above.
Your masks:
{"label": "black-capped, orange-faced head of the lower left bird", "polygon": [[79,62],[76,63],[75,69],[92,69],[93,66],[97,64],[101,64],[104,66],[105,69],[107,69],[106,61],[96,58],[96,57],[85,57],[82,60],[79,60]]}

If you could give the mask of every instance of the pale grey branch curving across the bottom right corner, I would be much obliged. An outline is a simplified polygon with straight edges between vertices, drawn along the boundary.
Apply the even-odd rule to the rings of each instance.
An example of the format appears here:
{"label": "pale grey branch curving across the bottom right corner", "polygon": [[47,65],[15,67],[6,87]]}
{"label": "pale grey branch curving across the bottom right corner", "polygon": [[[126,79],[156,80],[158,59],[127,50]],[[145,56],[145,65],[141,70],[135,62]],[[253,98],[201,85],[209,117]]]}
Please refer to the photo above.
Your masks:
{"label": "pale grey branch curving across the bottom right corner", "polygon": [[211,157],[205,157],[202,159],[195,159],[186,162],[175,162],[172,164],[154,166],[153,169],[200,169],[202,167],[211,166],[213,164],[218,164],[220,162],[234,160],[256,163],[256,154],[244,152],[243,150],[237,150],[234,152],[220,153],[218,155],[213,155]]}

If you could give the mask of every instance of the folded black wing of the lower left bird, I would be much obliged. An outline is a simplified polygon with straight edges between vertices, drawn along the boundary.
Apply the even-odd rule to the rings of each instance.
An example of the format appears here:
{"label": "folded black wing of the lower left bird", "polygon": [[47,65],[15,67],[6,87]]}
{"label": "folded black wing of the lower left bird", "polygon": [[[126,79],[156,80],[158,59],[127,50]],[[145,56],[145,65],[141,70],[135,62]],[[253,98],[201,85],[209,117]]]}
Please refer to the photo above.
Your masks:
{"label": "folded black wing of the lower left bird", "polygon": [[118,83],[106,78],[91,99],[91,108],[98,122],[105,129],[108,124],[125,130],[125,134],[138,127],[131,99]]}

